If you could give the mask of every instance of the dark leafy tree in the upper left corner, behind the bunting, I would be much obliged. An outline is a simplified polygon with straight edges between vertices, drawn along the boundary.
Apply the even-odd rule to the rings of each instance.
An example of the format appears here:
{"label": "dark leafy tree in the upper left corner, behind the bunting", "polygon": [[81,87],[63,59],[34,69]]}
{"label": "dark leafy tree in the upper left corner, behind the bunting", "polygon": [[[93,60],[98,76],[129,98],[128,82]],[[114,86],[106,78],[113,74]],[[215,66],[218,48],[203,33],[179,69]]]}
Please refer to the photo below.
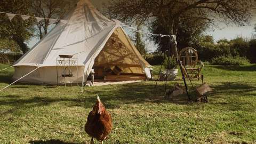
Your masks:
{"label": "dark leafy tree in the upper left corner, behind the bunting", "polygon": [[[18,14],[30,14],[30,0],[3,0],[0,2],[0,11]],[[5,14],[0,14],[0,38],[12,39],[15,41],[21,51],[26,53],[28,46],[25,43],[31,36],[34,35],[35,20],[23,20],[19,15],[16,15],[12,20]]]}

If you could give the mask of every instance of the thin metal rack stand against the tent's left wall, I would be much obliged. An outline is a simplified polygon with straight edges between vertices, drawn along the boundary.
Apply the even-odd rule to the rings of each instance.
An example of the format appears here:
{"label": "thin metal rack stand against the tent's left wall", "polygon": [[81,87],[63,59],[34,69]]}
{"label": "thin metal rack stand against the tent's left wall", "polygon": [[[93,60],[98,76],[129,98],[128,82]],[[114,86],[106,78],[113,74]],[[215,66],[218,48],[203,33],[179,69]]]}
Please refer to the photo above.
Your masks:
{"label": "thin metal rack stand against the tent's left wall", "polygon": [[[76,78],[76,83],[78,85],[78,66],[77,58],[57,58],[56,59],[56,72],[57,72],[57,86],[61,83],[67,85],[67,83],[72,86],[72,78]],[[76,75],[73,74],[72,68],[75,68]],[[59,74],[59,70],[62,69],[62,74]],[[60,81],[63,79],[64,81]]]}

